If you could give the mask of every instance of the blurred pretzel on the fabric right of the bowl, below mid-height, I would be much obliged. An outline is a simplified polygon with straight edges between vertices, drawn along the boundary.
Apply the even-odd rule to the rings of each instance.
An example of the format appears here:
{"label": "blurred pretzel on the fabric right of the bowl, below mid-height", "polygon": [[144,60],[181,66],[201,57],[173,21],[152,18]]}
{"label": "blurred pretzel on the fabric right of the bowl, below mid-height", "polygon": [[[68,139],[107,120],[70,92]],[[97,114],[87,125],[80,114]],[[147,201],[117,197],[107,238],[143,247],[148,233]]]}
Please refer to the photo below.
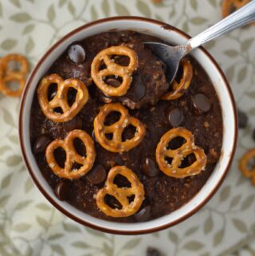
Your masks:
{"label": "blurred pretzel on the fabric right of the bowl, below mid-height", "polygon": [[255,159],[255,148],[250,149],[248,152],[242,156],[239,162],[239,169],[245,177],[252,180],[253,185],[255,185],[255,166],[249,167],[249,161]]}

